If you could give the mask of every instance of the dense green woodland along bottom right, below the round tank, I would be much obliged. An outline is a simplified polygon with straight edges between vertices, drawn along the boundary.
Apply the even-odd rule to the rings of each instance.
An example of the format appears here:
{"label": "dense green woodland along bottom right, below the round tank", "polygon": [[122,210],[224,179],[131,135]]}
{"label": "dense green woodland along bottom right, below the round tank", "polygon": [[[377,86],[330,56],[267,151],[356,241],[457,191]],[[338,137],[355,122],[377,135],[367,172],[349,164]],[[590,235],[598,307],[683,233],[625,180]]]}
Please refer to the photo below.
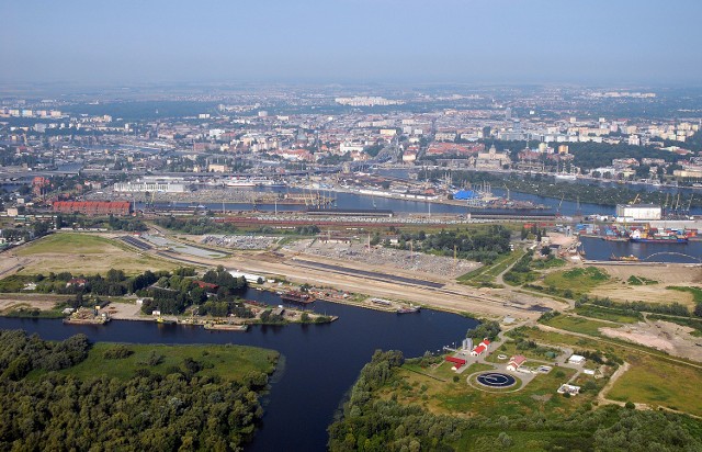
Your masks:
{"label": "dense green woodland along bottom right, below the round tank", "polygon": [[[665,411],[639,411],[618,406],[582,409],[547,419],[539,413],[499,419],[458,419],[433,415],[422,407],[377,397],[383,386],[401,384],[397,351],[376,351],[361,371],[343,406],[341,418],[329,427],[329,449],[339,451],[453,451],[464,437],[474,438],[474,451],[520,451],[512,431],[534,432],[553,451],[686,451],[702,450],[702,423]],[[555,434],[552,434],[555,433]]]}

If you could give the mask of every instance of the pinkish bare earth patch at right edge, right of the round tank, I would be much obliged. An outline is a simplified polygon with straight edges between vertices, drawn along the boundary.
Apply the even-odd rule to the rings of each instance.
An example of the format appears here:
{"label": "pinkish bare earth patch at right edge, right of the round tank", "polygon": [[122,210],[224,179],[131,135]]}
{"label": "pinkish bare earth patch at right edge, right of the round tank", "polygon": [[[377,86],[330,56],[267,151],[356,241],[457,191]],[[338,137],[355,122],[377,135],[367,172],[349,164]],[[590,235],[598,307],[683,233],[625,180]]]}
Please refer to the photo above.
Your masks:
{"label": "pinkish bare earth patch at right edge, right of the round tank", "polygon": [[702,361],[702,347],[697,346],[702,343],[702,338],[691,336],[692,330],[663,320],[639,321],[622,328],[600,328],[600,332],[612,338],[626,339],[672,355]]}

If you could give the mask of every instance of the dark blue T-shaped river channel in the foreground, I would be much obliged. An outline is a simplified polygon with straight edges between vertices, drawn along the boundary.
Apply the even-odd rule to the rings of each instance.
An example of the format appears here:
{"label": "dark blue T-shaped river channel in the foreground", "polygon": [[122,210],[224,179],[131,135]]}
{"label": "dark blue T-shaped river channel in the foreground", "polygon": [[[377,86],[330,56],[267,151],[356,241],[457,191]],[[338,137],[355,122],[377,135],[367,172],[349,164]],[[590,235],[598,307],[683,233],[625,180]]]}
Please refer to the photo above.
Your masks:
{"label": "dark blue T-shaped river channel in the foreground", "polygon": [[[280,301],[249,290],[247,298]],[[207,331],[200,327],[114,320],[105,326],[64,325],[60,320],[0,317],[0,328],[22,328],[44,339],[78,332],[92,341],[136,343],[237,343],[278,350],[283,359],[265,415],[249,451],[324,451],[327,426],[361,368],[376,349],[401,350],[405,357],[438,351],[460,342],[476,320],[422,309],[398,315],[315,302],[318,313],[339,316],[327,325],[254,326],[248,332]]]}

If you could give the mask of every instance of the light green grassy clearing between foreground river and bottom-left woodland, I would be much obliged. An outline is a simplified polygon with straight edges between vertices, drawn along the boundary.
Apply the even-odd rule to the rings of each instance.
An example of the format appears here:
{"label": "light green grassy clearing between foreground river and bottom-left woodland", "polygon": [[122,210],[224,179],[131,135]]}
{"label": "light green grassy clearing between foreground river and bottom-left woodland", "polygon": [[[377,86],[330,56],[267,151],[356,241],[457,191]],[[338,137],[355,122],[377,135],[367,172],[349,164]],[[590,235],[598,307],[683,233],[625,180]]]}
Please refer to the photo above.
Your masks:
{"label": "light green grassy clearing between foreground river and bottom-left woodland", "polygon": [[[180,368],[185,358],[204,365],[200,375],[218,375],[225,380],[237,381],[251,371],[270,373],[279,357],[273,350],[244,346],[163,346],[163,344],[124,344],[134,353],[124,359],[105,359],[105,351],[117,347],[116,343],[98,342],[93,344],[83,362],[63,373],[88,378],[97,375],[127,380],[139,369],[151,373],[166,374],[172,366]],[[156,365],[149,365],[151,355],[161,357]]]}

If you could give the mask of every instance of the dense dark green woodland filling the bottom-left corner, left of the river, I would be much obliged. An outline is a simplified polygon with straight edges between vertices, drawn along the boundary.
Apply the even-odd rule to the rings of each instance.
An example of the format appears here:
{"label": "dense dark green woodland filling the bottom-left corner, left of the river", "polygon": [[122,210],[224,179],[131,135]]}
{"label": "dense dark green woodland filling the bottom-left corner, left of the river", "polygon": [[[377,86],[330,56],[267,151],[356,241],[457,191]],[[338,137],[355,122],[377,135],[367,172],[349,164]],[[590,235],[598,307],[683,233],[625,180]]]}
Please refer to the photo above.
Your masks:
{"label": "dense dark green woodland filling the bottom-left corner, left of the river", "polygon": [[262,415],[265,378],[200,376],[192,359],[166,375],[145,364],[126,381],[55,372],[89,347],[82,335],[47,342],[0,330],[0,450],[237,451]]}

